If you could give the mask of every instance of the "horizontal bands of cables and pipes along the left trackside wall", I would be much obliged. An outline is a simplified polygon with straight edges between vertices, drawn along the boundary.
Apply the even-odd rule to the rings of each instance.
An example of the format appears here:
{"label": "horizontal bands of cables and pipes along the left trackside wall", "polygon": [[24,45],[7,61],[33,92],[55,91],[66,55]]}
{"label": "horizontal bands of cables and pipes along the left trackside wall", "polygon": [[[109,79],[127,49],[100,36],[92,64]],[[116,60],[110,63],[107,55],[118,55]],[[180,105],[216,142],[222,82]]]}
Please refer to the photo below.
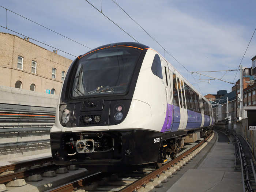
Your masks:
{"label": "horizontal bands of cables and pipes along the left trackside wall", "polygon": [[[47,135],[54,124],[55,110],[56,108],[0,103],[0,140],[1,137],[5,138],[5,142],[0,143],[1,150],[35,147],[37,144],[49,147],[50,140]],[[36,136],[33,140],[30,138],[31,132],[33,132],[33,136]],[[29,141],[19,141],[20,133]],[[40,139],[37,134],[45,136]],[[13,142],[15,137],[17,137],[17,141]],[[10,140],[6,140],[6,138],[10,138]]]}

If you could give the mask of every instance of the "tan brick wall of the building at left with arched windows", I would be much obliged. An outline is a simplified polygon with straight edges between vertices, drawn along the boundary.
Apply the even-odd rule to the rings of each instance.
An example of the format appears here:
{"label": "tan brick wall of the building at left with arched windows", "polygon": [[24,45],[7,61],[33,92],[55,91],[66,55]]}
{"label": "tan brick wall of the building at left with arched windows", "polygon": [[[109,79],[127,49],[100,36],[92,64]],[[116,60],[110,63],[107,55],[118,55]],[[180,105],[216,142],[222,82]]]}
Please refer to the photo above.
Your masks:
{"label": "tan brick wall of the building at left with arched windows", "polygon": [[[30,41],[8,33],[0,33],[0,85],[15,87],[22,82],[22,89],[46,93],[46,89],[61,89],[61,72],[68,70],[72,60],[53,53]],[[18,56],[23,57],[23,69],[17,68]],[[36,73],[31,72],[32,61],[37,62]],[[52,78],[52,68],[56,68],[56,78]]]}

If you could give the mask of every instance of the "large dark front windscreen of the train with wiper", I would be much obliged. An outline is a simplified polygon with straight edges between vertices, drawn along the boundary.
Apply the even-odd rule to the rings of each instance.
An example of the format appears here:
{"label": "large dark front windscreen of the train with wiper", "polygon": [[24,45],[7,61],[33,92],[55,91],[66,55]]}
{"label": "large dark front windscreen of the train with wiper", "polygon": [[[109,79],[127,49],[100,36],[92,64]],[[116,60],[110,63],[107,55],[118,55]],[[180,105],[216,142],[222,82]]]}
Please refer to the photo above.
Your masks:
{"label": "large dark front windscreen of the train with wiper", "polygon": [[122,94],[129,82],[141,50],[113,47],[90,53],[79,60],[72,96]]}

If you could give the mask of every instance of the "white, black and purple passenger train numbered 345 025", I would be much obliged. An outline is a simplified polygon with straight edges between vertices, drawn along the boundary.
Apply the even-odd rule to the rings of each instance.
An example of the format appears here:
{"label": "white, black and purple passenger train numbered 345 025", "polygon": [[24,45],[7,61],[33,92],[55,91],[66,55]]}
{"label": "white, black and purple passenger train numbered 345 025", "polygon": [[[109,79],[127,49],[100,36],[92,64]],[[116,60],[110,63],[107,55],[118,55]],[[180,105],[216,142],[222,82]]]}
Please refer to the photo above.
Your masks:
{"label": "white, black and purple passenger train numbered 345 025", "polygon": [[159,52],[119,42],[70,65],[50,146],[57,165],[161,167],[176,158],[184,137],[206,138],[214,123],[211,103]]}

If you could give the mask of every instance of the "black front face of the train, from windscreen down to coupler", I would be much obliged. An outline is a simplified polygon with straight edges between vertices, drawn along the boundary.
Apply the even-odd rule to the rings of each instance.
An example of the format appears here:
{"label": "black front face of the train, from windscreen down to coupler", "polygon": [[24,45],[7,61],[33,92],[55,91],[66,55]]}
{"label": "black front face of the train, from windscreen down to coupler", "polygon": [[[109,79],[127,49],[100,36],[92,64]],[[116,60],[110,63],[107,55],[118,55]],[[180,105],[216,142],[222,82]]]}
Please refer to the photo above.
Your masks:
{"label": "black front face of the train, from windscreen down to coupler", "polygon": [[[57,165],[135,165],[155,161],[148,159],[152,157],[148,154],[137,154],[137,143],[146,132],[126,129],[124,123],[122,129],[109,129],[120,125],[129,112],[145,48],[148,47],[137,43],[110,44],[73,61],[50,130],[52,156]],[[143,103],[137,106],[145,107]]]}

